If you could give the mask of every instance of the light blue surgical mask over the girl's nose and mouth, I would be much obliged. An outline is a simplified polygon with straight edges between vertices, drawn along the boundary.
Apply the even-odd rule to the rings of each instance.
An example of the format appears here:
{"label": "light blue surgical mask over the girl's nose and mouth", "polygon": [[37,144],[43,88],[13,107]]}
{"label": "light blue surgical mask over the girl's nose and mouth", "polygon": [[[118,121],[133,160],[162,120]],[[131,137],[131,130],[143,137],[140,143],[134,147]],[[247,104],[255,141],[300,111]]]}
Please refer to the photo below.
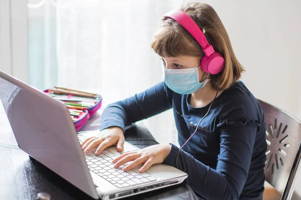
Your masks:
{"label": "light blue surgical mask over the girl's nose and mouth", "polygon": [[210,79],[199,81],[198,68],[164,69],[164,82],[173,91],[191,94],[201,89]]}

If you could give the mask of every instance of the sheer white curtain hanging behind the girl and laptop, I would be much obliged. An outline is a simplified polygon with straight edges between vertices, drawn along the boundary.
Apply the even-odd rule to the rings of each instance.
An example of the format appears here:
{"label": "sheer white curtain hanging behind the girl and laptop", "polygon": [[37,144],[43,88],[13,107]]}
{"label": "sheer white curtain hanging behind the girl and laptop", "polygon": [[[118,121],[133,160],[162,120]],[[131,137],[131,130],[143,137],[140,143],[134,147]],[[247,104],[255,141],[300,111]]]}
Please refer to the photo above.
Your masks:
{"label": "sheer white curtain hanging behind the girl and laptop", "polygon": [[[143,91],[162,80],[150,40],[162,16],[186,2],[29,0],[31,83],[95,91],[104,106]],[[145,123],[159,142],[177,143],[172,110]]]}

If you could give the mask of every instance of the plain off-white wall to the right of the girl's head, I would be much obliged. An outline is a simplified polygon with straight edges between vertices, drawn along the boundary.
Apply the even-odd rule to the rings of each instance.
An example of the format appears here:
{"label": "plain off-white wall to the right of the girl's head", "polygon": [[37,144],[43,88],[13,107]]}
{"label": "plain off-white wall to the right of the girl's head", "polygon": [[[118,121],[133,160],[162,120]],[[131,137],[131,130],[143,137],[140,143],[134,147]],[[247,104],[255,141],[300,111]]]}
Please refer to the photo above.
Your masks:
{"label": "plain off-white wall to the right of the girl's head", "polygon": [[[301,119],[301,1],[216,0],[211,4],[246,69],[245,84],[257,98]],[[295,191],[301,196],[301,174]]]}

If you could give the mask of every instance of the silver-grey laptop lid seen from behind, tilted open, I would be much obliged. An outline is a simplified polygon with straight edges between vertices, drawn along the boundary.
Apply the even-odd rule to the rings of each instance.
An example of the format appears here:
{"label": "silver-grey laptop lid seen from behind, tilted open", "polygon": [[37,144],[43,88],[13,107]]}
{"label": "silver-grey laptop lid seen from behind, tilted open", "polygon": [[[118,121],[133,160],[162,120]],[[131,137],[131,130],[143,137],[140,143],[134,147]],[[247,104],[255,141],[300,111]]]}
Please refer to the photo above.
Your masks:
{"label": "silver-grey laptop lid seen from behind, tilted open", "polygon": [[2,71],[0,99],[19,147],[98,199],[68,108]]}

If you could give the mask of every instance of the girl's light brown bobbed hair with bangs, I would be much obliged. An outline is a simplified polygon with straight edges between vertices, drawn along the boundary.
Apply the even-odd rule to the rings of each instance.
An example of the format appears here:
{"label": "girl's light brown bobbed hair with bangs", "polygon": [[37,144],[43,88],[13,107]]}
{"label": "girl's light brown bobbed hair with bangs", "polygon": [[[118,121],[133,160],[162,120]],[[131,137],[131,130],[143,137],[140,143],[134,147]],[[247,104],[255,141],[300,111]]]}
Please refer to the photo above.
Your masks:
{"label": "girl's light brown bobbed hair with bangs", "polygon": [[[213,48],[221,53],[225,59],[225,66],[218,74],[211,74],[211,83],[215,89],[227,89],[238,81],[243,66],[238,62],[230,42],[229,35],[217,15],[216,11],[206,3],[192,2],[181,7],[203,30]],[[162,26],[153,37],[152,48],[162,57],[177,57],[190,55],[199,57],[204,55],[201,45],[177,21],[163,17]]]}

